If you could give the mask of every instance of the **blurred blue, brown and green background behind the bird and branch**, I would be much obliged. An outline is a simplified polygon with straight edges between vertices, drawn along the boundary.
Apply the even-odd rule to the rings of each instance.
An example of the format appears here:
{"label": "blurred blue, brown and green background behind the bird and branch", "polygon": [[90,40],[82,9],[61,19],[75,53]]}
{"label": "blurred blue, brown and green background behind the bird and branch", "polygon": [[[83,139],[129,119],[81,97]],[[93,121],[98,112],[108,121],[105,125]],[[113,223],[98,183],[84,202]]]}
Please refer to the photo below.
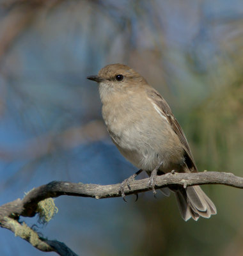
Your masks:
{"label": "blurred blue, brown and green background behind the bird and branch", "polygon": [[[242,176],[242,0],[1,0],[0,204],[52,180],[114,184],[136,171],[86,79],[110,63],[162,93],[199,170]],[[175,196],[152,192],[127,203],[61,196],[48,225],[21,220],[79,255],[243,255],[242,191],[203,189],[218,211],[209,220],[185,223]],[[2,228],[0,255],[44,253]]]}

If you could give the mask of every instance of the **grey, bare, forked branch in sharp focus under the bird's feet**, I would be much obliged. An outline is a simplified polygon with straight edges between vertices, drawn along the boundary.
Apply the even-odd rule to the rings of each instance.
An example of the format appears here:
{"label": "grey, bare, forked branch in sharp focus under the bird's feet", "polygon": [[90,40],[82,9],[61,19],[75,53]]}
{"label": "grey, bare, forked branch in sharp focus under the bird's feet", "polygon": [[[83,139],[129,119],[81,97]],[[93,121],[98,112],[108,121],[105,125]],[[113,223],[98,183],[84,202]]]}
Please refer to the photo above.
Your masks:
{"label": "grey, bare, forked branch in sharp focus under the bird's feet", "polygon": [[[149,191],[149,179],[134,180],[130,182],[130,189],[125,188],[125,195],[137,194]],[[169,185],[193,186],[202,184],[223,184],[235,188],[243,188],[243,178],[225,172],[200,172],[200,173],[167,173],[157,177],[155,188],[164,188]],[[61,195],[84,196],[96,199],[118,197],[121,184],[97,185],[71,183],[65,181],[52,181],[32,189],[21,200],[4,204],[0,207],[0,226],[7,228],[31,243],[35,248],[43,252],[56,252],[59,255],[76,255],[65,244],[58,241],[49,241],[40,237],[35,230],[26,223],[19,222],[20,216],[33,217],[40,213],[40,202],[47,198],[55,198]]]}

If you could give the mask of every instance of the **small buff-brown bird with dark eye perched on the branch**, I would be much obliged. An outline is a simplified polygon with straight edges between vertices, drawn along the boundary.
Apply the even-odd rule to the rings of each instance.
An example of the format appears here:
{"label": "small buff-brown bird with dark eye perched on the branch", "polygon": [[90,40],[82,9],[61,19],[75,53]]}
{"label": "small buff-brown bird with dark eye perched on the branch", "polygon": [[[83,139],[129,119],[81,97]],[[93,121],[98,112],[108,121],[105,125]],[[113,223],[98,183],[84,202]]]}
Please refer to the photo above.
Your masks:
{"label": "small buff-brown bird with dark eye perched on the branch", "polygon": [[[139,169],[123,180],[120,192],[140,172],[150,176],[155,192],[157,175],[169,172],[198,172],[184,131],[168,103],[134,69],[120,63],[106,65],[96,76],[87,79],[99,84],[102,116],[111,140],[120,153]],[[130,187],[129,187],[130,188]],[[170,186],[165,195],[175,193],[182,218],[210,218],[216,206],[200,186]]]}

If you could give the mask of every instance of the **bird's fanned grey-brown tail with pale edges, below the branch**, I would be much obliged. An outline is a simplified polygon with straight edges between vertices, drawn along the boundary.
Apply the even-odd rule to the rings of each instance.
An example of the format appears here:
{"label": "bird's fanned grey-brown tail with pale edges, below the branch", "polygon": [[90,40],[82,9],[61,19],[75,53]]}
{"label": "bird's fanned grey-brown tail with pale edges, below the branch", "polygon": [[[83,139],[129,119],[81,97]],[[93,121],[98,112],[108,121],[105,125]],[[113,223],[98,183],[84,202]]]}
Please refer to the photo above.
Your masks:
{"label": "bird's fanned grey-brown tail with pale edges, below the branch", "polygon": [[176,190],[175,196],[180,214],[185,221],[190,218],[198,220],[200,216],[210,218],[212,214],[217,213],[216,206],[200,186],[190,186]]}

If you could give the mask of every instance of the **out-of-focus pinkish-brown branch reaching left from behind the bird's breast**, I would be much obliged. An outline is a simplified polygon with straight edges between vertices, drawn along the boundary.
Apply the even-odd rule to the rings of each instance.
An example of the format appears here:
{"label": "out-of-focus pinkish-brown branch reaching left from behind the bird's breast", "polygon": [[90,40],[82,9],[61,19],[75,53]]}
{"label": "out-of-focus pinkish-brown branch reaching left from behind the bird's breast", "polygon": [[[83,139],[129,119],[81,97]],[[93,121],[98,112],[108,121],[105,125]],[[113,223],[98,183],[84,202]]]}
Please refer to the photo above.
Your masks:
{"label": "out-of-focus pinkish-brown branch reaching left from behind the bird's breast", "polygon": [[6,150],[0,147],[0,159],[13,161],[16,159],[38,159],[58,150],[70,150],[79,147],[82,143],[100,141],[107,138],[108,133],[104,122],[92,120],[77,127],[68,127],[67,130],[52,134],[51,132],[26,141],[23,147]]}

